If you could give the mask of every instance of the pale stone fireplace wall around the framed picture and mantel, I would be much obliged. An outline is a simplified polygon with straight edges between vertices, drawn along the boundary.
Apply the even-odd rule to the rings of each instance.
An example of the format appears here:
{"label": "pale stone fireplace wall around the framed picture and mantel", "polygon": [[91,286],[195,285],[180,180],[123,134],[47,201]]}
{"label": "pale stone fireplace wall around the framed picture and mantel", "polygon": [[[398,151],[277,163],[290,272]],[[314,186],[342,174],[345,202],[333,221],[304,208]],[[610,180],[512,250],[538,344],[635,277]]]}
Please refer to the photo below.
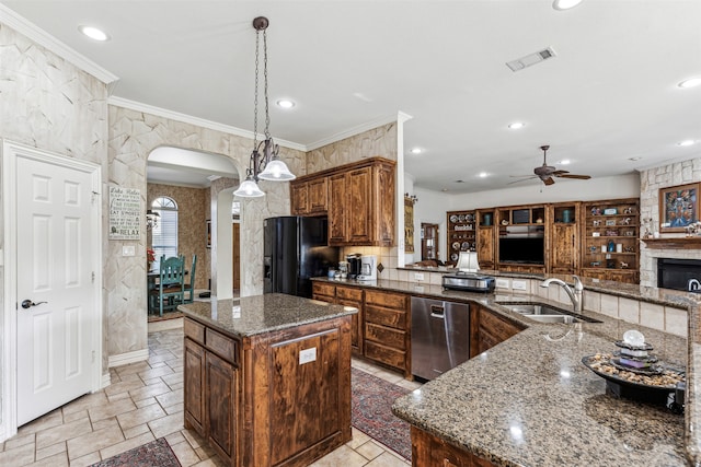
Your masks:
{"label": "pale stone fireplace wall around the framed picture and mantel", "polygon": [[[652,218],[652,224],[659,227],[659,188],[701,182],[701,157],[676,162],[669,165],[642,171],[640,174],[641,219]],[[683,236],[683,233],[660,234]],[[657,258],[699,259],[698,249],[647,248],[641,242],[640,284],[657,287]]]}

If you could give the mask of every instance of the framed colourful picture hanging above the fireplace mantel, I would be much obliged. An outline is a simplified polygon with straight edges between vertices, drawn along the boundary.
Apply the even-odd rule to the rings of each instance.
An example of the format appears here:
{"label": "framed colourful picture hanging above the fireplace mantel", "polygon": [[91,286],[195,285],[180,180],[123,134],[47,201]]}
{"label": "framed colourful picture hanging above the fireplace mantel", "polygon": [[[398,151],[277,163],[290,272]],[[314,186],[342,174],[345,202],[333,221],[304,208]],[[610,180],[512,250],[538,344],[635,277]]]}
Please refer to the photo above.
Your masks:
{"label": "framed colourful picture hanging above the fireplace mantel", "polygon": [[659,188],[659,231],[683,232],[699,220],[699,184]]}

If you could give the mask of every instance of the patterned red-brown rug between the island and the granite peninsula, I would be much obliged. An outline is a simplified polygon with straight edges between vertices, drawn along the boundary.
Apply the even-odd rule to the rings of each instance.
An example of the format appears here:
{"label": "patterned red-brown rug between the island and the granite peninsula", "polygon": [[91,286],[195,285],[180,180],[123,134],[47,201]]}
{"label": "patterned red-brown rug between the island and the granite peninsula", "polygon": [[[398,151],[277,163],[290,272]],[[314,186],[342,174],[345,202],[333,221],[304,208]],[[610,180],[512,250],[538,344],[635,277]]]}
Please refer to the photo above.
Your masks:
{"label": "patterned red-brown rug between the island and the granite peninsula", "polygon": [[407,460],[412,459],[409,423],[392,413],[394,399],[409,393],[361,370],[350,369],[353,425]]}

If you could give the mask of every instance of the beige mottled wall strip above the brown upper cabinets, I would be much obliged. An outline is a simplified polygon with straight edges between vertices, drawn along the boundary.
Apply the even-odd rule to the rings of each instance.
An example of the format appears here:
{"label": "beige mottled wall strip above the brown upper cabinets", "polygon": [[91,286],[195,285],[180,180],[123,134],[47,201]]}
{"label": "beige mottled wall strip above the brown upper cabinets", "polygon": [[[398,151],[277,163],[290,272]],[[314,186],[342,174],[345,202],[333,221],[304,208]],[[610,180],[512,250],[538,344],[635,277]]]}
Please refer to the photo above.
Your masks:
{"label": "beige mottled wall strip above the brown upper cabinets", "polygon": [[[397,122],[326,144],[307,153],[307,174],[313,174],[366,157],[397,161]],[[403,176],[403,174],[398,175]]]}

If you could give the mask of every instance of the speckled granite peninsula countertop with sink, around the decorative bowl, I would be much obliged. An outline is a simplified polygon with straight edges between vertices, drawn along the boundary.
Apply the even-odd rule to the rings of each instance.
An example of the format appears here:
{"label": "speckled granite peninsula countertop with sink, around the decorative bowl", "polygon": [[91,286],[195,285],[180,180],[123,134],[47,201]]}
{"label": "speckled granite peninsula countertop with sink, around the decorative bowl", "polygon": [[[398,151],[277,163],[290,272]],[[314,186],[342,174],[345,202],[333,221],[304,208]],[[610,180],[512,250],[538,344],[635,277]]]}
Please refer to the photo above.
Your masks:
{"label": "speckled granite peninsula countertop with sink, around the decorative bowl", "polygon": [[[318,278],[332,283],[343,281]],[[499,466],[683,466],[701,463],[696,433],[701,405],[694,367],[701,365],[698,330],[701,296],[620,283],[585,289],[689,310],[689,341],[601,314],[602,323],[541,324],[496,301],[544,302],[540,296],[444,291],[440,285],[379,280],[347,284],[441,300],[478,302],[525,329],[510,339],[397,399],[394,413],[450,444]],[[562,306],[561,304],[559,306]],[[607,393],[605,380],[582,363],[612,352],[629,329],[641,330],[653,354],[687,369],[685,415]],[[698,366],[701,367],[701,366]],[[690,459],[690,460],[688,460]]]}

